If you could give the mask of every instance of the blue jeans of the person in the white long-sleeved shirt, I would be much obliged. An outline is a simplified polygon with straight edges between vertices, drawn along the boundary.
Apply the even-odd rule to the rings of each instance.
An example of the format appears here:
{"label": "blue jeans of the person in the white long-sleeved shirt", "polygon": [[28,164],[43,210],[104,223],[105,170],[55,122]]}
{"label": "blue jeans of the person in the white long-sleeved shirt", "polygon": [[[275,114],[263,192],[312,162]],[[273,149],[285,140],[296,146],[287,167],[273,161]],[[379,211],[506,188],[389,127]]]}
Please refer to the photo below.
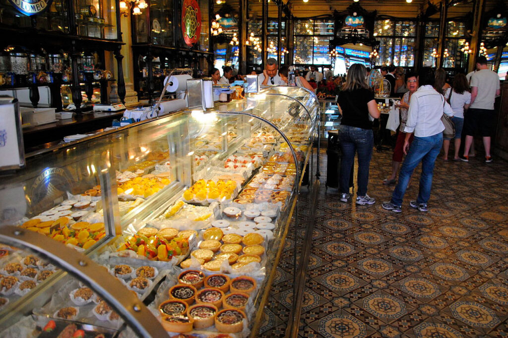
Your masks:
{"label": "blue jeans of the person in the white long-sleeved shirt", "polygon": [[416,201],[418,204],[427,203],[430,198],[430,189],[432,188],[434,162],[437,155],[439,155],[442,143],[442,132],[425,138],[415,137],[400,168],[399,183],[397,183],[392,194],[393,204],[397,206],[402,205],[402,198],[404,198],[409,178],[420,162],[422,162],[422,177],[420,178],[420,189]]}

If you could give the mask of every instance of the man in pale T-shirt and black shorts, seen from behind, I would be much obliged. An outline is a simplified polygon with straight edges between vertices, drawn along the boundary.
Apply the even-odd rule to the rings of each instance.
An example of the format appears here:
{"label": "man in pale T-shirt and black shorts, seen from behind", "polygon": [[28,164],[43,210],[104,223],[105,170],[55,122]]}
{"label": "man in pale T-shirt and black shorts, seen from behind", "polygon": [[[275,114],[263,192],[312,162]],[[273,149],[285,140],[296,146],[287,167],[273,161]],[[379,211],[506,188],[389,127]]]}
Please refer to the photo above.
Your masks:
{"label": "man in pale T-shirt and black shorts, seen from behind", "polygon": [[501,90],[499,77],[488,69],[487,58],[483,55],[477,58],[477,71],[471,76],[471,104],[467,114],[464,116],[464,133],[466,141],[464,144],[464,155],[460,159],[469,162],[469,148],[473,142],[475,131],[480,131],[483,137],[485,148],[485,163],[492,162],[490,155],[490,137],[495,126],[496,112],[494,100]]}

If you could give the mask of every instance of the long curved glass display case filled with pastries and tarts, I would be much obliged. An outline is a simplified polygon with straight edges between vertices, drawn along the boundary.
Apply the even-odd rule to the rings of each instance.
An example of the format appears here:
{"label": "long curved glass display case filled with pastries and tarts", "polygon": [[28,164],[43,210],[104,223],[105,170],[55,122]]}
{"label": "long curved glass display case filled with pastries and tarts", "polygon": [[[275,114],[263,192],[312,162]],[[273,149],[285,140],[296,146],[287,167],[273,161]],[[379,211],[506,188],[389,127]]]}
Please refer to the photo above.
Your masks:
{"label": "long curved glass display case filled with pastries and tarts", "polygon": [[267,88],[29,154],[0,183],[2,335],[256,336],[318,119]]}

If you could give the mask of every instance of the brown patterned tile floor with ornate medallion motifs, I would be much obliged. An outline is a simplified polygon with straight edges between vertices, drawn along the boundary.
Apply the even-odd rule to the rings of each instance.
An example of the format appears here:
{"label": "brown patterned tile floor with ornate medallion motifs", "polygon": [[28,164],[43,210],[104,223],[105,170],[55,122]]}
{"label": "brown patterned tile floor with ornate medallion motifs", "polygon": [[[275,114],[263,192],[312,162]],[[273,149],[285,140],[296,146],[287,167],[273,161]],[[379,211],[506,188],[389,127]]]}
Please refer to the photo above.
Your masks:
{"label": "brown patterned tile floor with ornate medallion motifs", "polygon": [[[508,337],[508,163],[440,157],[429,211],[408,205],[418,193],[417,170],[396,214],[380,205],[393,191],[381,184],[390,152],[373,154],[373,206],[345,204],[337,189],[326,191],[323,151],[321,159],[299,336]],[[303,190],[300,224],[308,221]],[[304,229],[298,233],[301,243]],[[295,238],[289,237],[260,336],[284,336],[290,319]]]}

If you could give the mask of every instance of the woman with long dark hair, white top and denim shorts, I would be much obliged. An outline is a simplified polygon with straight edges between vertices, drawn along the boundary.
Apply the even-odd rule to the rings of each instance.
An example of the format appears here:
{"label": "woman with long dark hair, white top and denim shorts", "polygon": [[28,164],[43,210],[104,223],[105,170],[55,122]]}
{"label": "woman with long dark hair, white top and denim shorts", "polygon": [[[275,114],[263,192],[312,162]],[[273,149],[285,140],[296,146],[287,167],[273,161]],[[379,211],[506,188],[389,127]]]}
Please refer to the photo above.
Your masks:
{"label": "woman with long dark hair, white top and denim shorts", "polygon": [[[459,158],[459,148],[460,148],[460,138],[462,134],[462,126],[464,125],[464,111],[469,108],[469,103],[471,102],[471,93],[468,91],[469,85],[467,83],[467,78],[464,74],[459,73],[453,79],[453,87],[449,88],[444,95],[447,99],[450,106],[452,106],[452,110],[454,115],[452,117],[452,122],[455,124],[455,154],[453,157],[454,161],[460,161]],[[443,160],[448,161],[448,150],[450,149],[450,139],[443,140],[443,150],[444,156]]]}

